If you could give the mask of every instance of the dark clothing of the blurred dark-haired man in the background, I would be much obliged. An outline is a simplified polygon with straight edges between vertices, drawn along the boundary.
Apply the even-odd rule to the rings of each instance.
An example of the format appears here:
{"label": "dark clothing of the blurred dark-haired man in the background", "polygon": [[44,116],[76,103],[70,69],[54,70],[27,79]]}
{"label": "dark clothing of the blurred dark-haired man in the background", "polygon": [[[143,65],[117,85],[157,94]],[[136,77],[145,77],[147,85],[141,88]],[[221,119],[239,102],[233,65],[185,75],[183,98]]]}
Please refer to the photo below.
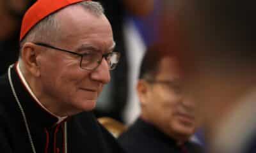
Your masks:
{"label": "dark clothing of the blurred dark-haired man in the background", "polygon": [[[136,120],[131,128],[118,138],[118,142],[127,153],[182,152],[175,140],[141,119]],[[202,152],[200,146],[195,143],[186,142],[184,146],[189,153]]]}

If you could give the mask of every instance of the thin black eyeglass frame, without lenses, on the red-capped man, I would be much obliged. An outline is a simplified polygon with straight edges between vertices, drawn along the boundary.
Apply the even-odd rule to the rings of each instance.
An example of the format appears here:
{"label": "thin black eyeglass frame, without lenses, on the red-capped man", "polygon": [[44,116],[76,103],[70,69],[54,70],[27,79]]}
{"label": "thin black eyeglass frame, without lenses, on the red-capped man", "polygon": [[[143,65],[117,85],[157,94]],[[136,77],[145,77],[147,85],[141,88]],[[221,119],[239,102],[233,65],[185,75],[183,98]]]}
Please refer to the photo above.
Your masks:
{"label": "thin black eyeglass frame, without lenses, on the red-capped man", "polygon": [[86,70],[89,70],[89,71],[93,71],[93,70],[97,69],[97,68],[100,66],[100,63],[102,62],[102,59],[103,59],[103,58],[105,58],[106,61],[108,62],[108,57],[109,57],[109,55],[115,54],[115,55],[117,55],[117,62],[116,62],[116,64],[115,64],[115,66],[113,66],[113,67],[111,68],[111,66],[110,66],[110,64],[109,64],[109,62],[108,62],[109,70],[113,70],[113,69],[116,68],[116,65],[118,64],[119,59],[120,59],[120,52],[108,52],[108,53],[106,53],[106,54],[102,54],[102,57],[101,57],[100,61],[97,61],[98,65],[97,65],[95,68],[88,69],[88,68],[83,68],[83,67],[82,67],[83,57],[84,57],[84,55],[87,55],[87,53],[86,53],[86,54],[79,54],[79,53],[77,53],[77,52],[73,52],[73,51],[70,51],[70,50],[64,50],[64,49],[61,49],[61,48],[53,47],[52,45],[48,45],[48,44],[46,44],[46,43],[35,43],[35,42],[33,42],[33,43],[34,43],[35,45],[38,45],[38,46],[47,47],[47,48],[52,48],[52,49],[54,49],[54,50],[60,50],[60,51],[63,51],[63,52],[67,52],[67,53],[70,53],[70,54],[74,54],[74,55],[80,56],[80,57],[81,57],[80,68],[81,68],[81,69],[86,69]]}

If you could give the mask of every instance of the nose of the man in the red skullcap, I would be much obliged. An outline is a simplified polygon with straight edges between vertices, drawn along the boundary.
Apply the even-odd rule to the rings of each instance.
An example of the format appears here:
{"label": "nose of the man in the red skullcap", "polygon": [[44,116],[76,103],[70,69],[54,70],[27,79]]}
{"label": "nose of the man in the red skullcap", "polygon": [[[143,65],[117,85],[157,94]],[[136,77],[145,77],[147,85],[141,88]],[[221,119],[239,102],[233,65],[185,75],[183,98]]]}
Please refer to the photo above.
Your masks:
{"label": "nose of the man in the red skullcap", "polygon": [[91,73],[92,80],[101,82],[102,84],[108,84],[110,81],[110,73],[108,62],[105,58],[102,59],[97,69]]}

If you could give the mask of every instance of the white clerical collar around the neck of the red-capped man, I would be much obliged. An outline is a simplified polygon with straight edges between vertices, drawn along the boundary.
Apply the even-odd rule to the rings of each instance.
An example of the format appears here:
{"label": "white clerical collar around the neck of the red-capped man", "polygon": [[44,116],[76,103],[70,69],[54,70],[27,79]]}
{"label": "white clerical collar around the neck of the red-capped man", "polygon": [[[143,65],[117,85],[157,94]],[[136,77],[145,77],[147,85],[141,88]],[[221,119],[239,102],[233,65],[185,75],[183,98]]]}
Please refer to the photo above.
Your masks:
{"label": "white clerical collar around the neck of the red-capped man", "polygon": [[56,124],[60,123],[61,121],[63,121],[64,119],[67,118],[67,117],[59,117],[58,115],[55,115],[54,113],[52,113],[49,110],[47,110],[47,108],[45,108],[45,106],[42,105],[42,103],[40,103],[40,101],[36,98],[36,96],[33,93],[33,91],[31,91],[31,88],[29,87],[28,82],[26,82],[26,79],[24,78],[24,76],[22,75],[22,72],[20,71],[19,62],[17,63],[16,69],[17,69],[17,73],[18,73],[22,83],[25,85],[25,87],[28,90],[29,94],[31,94],[31,96],[35,99],[36,103],[38,103],[38,105],[40,105],[42,108],[44,108],[44,110],[46,112],[51,113],[51,115],[53,115],[54,117],[58,118],[58,122]]}

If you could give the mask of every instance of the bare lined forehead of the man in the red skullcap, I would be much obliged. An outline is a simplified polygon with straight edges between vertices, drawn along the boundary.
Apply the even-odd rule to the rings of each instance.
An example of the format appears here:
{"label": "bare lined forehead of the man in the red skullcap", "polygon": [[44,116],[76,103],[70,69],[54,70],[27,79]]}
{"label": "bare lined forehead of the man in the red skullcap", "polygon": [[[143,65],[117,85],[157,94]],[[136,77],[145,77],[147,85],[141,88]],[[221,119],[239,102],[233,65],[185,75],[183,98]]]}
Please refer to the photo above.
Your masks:
{"label": "bare lined forehead of the man in the red skullcap", "polygon": [[[82,43],[107,43],[113,41],[111,25],[104,15],[96,17],[81,7],[80,10],[67,9],[60,12],[56,18],[61,24],[61,44],[71,47],[70,49],[81,47]],[[88,24],[90,23],[90,24]],[[100,38],[100,39],[99,39]],[[88,41],[87,41],[88,40]],[[80,45],[79,45],[80,44]]]}

